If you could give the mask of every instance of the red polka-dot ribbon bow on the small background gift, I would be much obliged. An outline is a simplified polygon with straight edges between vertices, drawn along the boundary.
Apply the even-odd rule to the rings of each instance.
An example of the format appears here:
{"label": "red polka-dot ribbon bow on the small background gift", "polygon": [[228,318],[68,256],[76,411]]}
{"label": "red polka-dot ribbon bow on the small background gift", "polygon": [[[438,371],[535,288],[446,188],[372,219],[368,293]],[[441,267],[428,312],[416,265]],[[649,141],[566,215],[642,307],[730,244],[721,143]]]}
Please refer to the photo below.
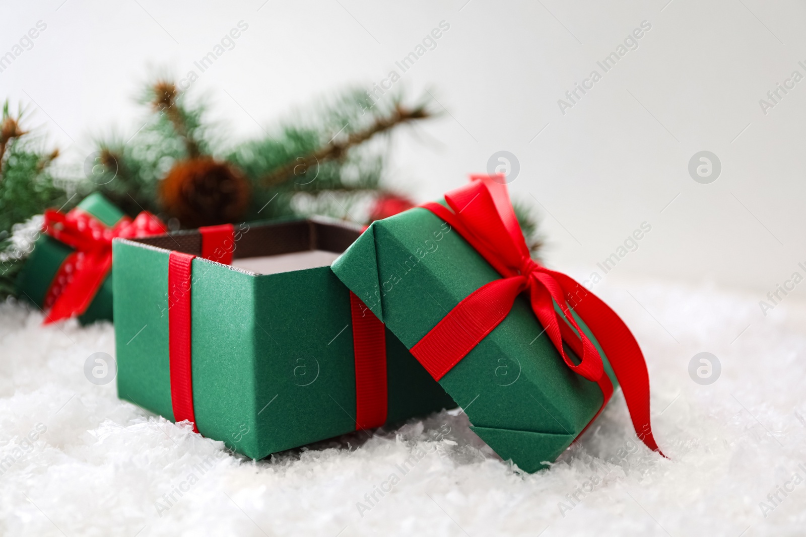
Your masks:
{"label": "red polka-dot ribbon bow on the small background gift", "polygon": [[44,214],[44,233],[75,251],[67,256],[45,294],[44,324],[81,315],[92,303],[112,267],[112,239],[137,238],[165,233],[168,228],[159,218],[143,211],[134,221],[121,218],[107,227],[82,209],[64,214],[48,209]]}

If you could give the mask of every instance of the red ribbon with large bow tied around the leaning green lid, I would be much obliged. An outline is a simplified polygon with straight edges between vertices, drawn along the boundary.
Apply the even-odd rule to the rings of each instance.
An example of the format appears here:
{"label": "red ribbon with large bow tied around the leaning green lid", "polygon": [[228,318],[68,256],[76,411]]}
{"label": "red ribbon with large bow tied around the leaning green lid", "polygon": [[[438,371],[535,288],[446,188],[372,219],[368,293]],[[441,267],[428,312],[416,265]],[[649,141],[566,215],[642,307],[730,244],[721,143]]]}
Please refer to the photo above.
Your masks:
{"label": "red ribbon with large bow tied around the leaning green lid", "polygon": [[[571,315],[571,303],[605,351],[621,384],[638,437],[650,449],[660,451],[650,426],[649,374],[635,337],[596,295],[567,275],[534,262],[506,186],[496,179],[471,176],[469,184],[445,196],[450,209],[438,203],[422,205],[456,229],[503,278],[480,287],[459,302],[412,347],[411,353],[439,380],[505,319],[517,295],[528,291],[534,314],[566,365],[599,385],[604,401],[596,413],[598,416],[613,394],[613,384],[605,374],[596,346]],[[563,312],[562,317],[555,305]],[[581,358],[579,364],[568,357],[563,342]]]}

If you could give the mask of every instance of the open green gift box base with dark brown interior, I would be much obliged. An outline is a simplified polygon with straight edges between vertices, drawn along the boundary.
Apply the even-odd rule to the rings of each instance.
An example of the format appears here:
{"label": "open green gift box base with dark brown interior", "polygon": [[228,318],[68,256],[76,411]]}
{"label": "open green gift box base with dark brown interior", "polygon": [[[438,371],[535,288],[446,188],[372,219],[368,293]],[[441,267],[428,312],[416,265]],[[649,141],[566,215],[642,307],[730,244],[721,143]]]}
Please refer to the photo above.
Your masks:
{"label": "open green gift box base with dark brown interior", "polygon": [[[368,410],[356,391],[358,321],[350,291],[329,265],[359,233],[324,220],[238,225],[222,246],[231,248],[231,266],[186,255],[206,250],[198,231],[114,239],[118,396],[185,419],[174,368],[177,341],[187,341],[192,396],[185,401],[203,436],[260,459],[355,431],[359,412]],[[190,271],[188,302],[170,283],[177,259]],[[181,340],[177,319],[185,307],[189,333]],[[372,320],[385,335],[386,378],[374,386],[385,392],[381,423],[455,407],[405,345]]]}

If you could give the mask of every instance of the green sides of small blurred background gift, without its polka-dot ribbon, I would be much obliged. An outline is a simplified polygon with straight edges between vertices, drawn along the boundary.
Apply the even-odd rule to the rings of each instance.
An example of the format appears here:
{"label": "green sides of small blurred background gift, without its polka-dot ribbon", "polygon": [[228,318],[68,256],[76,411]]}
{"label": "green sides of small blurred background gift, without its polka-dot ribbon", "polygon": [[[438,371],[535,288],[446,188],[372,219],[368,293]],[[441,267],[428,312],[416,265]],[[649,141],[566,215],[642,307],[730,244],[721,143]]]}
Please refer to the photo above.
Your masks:
{"label": "green sides of small blurred background gift, without its polka-dot ribbon", "polygon": [[[81,200],[78,207],[92,214],[108,226],[115,225],[123,212],[106,200],[99,192],[93,192]],[[23,270],[17,277],[17,295],[43,308],[45,295],[56,277],[64,259],[73,249],[55,238],[42,233],[36,240],[34,250],[28,257]],[[86,311],[78,317],[81,324],[93,323],[96,320],[112,320],[112,275],[108,275],[98,289],[95,298]]]}

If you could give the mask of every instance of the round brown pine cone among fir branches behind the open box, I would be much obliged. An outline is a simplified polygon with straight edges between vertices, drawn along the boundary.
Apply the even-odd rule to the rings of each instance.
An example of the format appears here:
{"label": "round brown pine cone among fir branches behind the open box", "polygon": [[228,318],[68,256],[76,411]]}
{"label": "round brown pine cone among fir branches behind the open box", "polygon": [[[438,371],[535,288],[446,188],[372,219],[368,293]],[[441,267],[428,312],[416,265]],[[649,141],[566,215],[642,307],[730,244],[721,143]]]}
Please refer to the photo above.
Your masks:
{"label": "round brown pine cone among fir branches behind the open box", "polygon": [[239,221],[249,204],[249,184],[230,163],[209,156],[176,163],[162,180],[166,211],[183,227]]}

